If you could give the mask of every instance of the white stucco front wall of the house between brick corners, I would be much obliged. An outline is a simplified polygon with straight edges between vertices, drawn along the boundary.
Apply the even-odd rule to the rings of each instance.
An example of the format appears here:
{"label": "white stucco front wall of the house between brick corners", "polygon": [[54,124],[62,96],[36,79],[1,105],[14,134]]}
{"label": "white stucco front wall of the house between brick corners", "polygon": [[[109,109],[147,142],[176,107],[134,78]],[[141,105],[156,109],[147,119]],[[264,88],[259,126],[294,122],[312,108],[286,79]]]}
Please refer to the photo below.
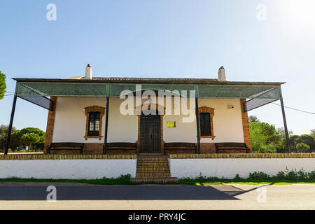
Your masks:
{"label": "white stucco front wall of the house between brick corners", "polygon": [[[108,142],[135,142],[138,139],[138,116],[123,116],[120,113],[120,104],[124,99],[111,97],[109,102],[109,134]],[[143,100],[142,102],[145,102]],[[189,105],[189,104],[188,104]],[[228,105],[235,108],[228,110]],[[55,115],[55,127],[52,135],[53,142],[84,142],[103,143],[104,138],[84,139],[86,116],[84,108],[87,106],[106,107],[104,97],[58,97]],[[135,104],[134,104],[135,106]],[[166,106],[166,103],[165,103]],[[174,102],[174,108],[180,104]],[[201,139],[201,142],[244,142],[241,123],[241,107],[239,99],[199,99],[199,106],[214,108],[214,135],[216,138]],[[195,108],[195,104],[193,105]],[[135,111],[135,110],[134,110]],[[195,114],[194,114],[195,116]],[[167,115],[163,117],[163,139],[165,142],[197,142],[196,120],[183,123],[183,116]],[[167,121],[176,121],[176,127],[167,127]],[[102,135],[104,136],[105,115],[102,119]]]}

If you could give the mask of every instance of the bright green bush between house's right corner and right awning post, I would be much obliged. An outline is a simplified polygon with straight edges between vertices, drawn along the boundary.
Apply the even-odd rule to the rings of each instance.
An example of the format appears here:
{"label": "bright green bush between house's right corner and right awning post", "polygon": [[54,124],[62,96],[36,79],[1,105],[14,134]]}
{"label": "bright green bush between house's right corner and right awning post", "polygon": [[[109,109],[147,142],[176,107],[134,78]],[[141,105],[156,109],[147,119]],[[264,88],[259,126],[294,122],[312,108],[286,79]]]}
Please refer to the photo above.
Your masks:
{"label": "bright green bush between house's right corner and right awning post", "polygon": [[253,153],[276,153],[276,148],[282,146],[281,135],[276,132],[274,125],[252,122],[249,123],[249,132]]}

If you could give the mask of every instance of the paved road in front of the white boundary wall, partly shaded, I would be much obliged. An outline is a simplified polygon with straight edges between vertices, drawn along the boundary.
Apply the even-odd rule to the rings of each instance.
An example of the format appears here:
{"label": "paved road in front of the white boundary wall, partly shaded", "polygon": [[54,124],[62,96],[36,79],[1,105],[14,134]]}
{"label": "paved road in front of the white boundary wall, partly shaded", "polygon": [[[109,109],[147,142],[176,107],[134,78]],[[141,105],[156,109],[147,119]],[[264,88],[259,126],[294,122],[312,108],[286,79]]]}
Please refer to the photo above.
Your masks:
{"label": "paved road in front of the white boundary wall, partly shaded", "polygon": [[[46,201],[50,185],[55,203]],[[0,183],[0,209],[315,209],[315,185]]]}

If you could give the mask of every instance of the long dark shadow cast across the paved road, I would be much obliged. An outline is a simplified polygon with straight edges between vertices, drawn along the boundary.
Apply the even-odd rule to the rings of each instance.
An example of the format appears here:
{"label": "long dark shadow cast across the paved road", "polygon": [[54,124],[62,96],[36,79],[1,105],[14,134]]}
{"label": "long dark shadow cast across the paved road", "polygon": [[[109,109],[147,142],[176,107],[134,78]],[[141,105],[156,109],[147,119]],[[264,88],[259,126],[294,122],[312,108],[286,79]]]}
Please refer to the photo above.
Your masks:
{"label": "long dark shadow cast across the paved road", "polygon": [[[57,200],[238,200],[233,186],[56,186]],[[0,186],[0,200],[46,200],[47,186]]]}

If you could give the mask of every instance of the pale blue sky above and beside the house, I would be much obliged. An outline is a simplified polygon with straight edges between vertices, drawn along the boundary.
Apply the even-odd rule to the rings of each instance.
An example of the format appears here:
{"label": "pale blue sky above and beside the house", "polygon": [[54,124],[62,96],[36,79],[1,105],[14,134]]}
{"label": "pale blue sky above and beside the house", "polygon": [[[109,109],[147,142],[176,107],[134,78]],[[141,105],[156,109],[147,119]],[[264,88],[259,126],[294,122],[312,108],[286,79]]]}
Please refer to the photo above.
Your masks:
{"label": "pale blue sky above and beside the house", "polygon": [[[57,20],[46,6],[55,3]],[[257,18],[259,4],[265,20]],[[257,9],[258,7],[258,9]],[[315,112],[315,1],[143,0],[0,2],[0,70],[11,78],[94,76],[285,81],[286,106]],[[0,101],[8,124],[13,96]],[[276,102],[279,104],[279,102]],[[48,111],[18,99],[13,125],[45,130]],[[273,104],[249,115],[283,127]],[[308,134],[315,116],[286,109],[288,129]]]}

